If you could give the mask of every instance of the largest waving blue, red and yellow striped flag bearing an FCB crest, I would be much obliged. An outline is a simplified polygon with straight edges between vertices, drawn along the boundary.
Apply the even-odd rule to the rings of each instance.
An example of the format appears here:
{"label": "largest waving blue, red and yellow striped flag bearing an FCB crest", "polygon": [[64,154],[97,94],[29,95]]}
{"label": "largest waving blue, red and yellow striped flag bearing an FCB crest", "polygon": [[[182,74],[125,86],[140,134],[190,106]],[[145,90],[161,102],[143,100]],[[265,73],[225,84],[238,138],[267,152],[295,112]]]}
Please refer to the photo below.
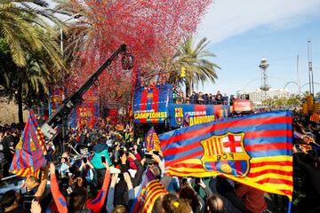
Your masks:
{"label": "largest waving blue, red and yellow striped flag bearing an FCB crest", "polygon": [[222,175],[292,199],[292,112],[201,123],[159,135],[167,173]]}

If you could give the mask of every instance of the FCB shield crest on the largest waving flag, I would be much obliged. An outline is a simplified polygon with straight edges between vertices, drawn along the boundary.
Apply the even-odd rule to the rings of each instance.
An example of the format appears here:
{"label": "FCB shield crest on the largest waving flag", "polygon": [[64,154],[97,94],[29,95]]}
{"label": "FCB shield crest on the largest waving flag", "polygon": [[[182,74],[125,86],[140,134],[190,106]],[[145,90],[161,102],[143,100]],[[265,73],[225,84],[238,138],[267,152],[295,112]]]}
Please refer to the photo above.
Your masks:
{"label": "FCB shield crest on the largest waving flag", "polygon": [[202,140],[204,170],[220,171],[235,177],[245,177],[250,170],[250,155],[244,149],[244,132],[212,136]]}

